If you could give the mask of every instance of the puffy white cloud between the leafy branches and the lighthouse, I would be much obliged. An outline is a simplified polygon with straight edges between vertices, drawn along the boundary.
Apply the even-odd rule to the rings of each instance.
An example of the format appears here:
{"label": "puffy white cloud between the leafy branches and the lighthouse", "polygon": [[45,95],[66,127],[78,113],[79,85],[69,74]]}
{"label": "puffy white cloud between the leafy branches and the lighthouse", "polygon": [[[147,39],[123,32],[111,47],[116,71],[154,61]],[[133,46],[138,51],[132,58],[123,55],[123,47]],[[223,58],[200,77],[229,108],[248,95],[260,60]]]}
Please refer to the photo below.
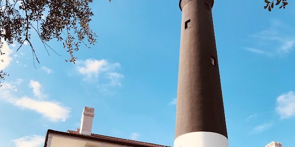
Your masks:
{"label": "puffy white cloud between the leafy branches and the lighthouse", "polygon": [[124,75],[117,73],[116,70],[120,68],[120,64],[109,63],[107,60],[87,59],[86,61],[78,61],[77,70],[79,73],[85,75],[84,80],[95,81],[97,79],[109,79],[108,86],[121,86],[120,79]]}

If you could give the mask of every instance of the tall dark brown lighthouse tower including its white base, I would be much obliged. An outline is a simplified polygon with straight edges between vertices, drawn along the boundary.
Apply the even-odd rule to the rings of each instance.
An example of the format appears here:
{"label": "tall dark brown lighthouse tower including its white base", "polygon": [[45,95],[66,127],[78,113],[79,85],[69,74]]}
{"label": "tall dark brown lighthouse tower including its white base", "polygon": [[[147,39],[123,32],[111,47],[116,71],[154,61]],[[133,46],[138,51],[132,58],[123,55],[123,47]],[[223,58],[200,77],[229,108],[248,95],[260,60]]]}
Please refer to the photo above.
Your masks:
{"label": "tall dark brown lighthouse tower including its white base", "polygon": [[211,8],[180,0],[182,11],[174,147],[229,147]]}

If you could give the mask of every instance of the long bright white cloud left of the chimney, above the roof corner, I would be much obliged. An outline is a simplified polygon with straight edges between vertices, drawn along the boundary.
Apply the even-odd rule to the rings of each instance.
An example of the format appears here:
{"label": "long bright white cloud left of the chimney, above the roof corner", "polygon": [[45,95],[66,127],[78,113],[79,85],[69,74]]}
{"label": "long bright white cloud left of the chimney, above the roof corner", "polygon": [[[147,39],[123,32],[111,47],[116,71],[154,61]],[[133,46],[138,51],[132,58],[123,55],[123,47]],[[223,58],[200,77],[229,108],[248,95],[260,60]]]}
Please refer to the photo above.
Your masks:
{"label": "long bright white cloud left of the chimney, above the roof corner", "polygon": [[15,96],[16,86],[13,83],[4,82],[2,85],[0,88],[0,100],[10,102],[22,109],[34,110],[52,122],[65,121],[69,117],[70,108],[61,106],[59,102],[36,100],[26,96],[17,98]]}

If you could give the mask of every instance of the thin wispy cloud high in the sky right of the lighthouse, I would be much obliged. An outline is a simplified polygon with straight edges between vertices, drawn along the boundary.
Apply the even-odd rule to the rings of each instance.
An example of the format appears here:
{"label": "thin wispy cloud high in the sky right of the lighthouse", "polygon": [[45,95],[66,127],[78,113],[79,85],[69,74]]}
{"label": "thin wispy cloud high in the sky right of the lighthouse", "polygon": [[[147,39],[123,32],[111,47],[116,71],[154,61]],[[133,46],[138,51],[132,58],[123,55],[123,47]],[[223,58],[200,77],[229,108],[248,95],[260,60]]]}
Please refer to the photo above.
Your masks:
{"label": "thin wispy cloud high in the sky right of the lighthouse", "polygon": [[[273,56],[289,53],[295,46],[295,36],[289,30],[284,30],[286,24],[278,20],[272,20],[266,29],[251,35],[255,42],[262,47],[246,48],[253,53]],[[290,34],[289,34],[290,33]],[[256,44],[257,45],[257,44]],[[267,46],[271,45],[271,46]]]}

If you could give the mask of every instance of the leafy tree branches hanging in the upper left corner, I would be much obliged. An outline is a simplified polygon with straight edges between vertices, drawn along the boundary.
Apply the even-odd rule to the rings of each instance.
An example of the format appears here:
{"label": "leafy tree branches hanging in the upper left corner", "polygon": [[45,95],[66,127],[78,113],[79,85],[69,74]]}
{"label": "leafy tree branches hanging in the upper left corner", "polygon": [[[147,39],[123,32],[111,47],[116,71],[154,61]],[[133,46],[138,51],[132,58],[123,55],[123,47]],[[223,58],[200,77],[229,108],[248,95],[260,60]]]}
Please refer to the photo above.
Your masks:
{"label": "leafy tree branches hanging in the upper left corner", "polygon": [[[46,43],[47,41],[53,38],[57,41],[64,40],[63,46],[70,55],[65,61],[75,63],[77,57],[73,55],[73,50],[79,50],[81,43],[89,48],[88,45],[94,45],[96,42],[97,36],[89,26],[90,17],[93,16],[89,8],[90,2],[92,0],[0,0],[0,39],[3,38],[7,44],[17,42],[19,44],[17,50],[26,41],[31,48],[33,62],[36,59],[39,63],[30,42],[30,31],[33,30],[39,36],[48,55],[47,49],[52,48]],[[0,45],[2,55],[4,53],[1,51],[1,40]],[[2,73],[0,80],[4,79]]]}

